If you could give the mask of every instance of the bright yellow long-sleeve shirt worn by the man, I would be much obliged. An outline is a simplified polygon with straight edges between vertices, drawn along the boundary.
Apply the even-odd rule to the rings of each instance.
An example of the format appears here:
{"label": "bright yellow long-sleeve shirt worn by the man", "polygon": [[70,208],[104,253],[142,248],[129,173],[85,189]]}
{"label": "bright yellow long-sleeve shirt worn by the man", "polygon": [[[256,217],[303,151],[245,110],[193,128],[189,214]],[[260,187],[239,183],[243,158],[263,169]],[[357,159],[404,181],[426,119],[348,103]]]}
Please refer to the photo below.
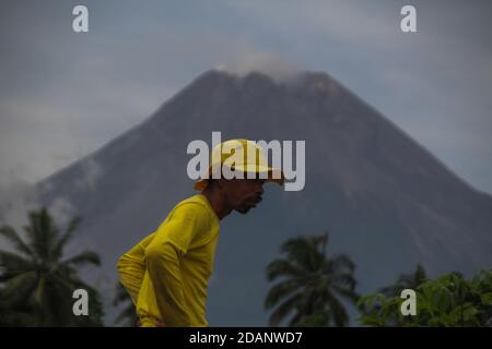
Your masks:
{"label": "bright yellow long-sleeve shirt worn by the man", "polygon": [[206,196],[178,203],[156,231],[118,261],[141,326],[208,326],[208,280],[220,220]]}

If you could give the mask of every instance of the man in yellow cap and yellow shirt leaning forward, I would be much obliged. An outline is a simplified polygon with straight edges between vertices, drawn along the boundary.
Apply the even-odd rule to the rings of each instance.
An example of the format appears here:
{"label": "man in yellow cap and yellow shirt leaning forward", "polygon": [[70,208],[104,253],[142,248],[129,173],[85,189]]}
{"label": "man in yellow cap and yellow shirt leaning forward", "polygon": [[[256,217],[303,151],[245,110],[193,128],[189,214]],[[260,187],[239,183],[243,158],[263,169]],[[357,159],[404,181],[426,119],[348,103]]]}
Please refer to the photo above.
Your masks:
{"label": "man in yellow cap and yellow shirt leaning forward", "polygon": [[[224,170],[236,178],[222,176]],[[256,178],[248,179],[248,172]],[[118,261],[141,326],[208,326],[207,286],[220,220],[232,210],[246,214],[261,201],[266,181],[282,184],[283,179],[255,142],[226,141],[212,151],[208,178],[195,184],[200,194],[178,203],[156,231]]]}

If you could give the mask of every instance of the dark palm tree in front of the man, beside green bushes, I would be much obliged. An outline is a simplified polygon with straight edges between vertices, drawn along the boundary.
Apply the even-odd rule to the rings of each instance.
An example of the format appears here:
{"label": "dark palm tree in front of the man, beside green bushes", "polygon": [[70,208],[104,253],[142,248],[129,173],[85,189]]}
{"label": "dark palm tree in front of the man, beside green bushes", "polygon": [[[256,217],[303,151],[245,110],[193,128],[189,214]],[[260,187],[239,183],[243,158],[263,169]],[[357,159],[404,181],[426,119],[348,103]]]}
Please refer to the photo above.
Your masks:
{"label": "dark palm tree in front of the man, beside green bushes", "polygon": [[270,326],[278,326],[291,312],[290,326],[313,320],[318,325],[345,326],[349,315],[340,300],[355,302],[356,281],[354,264],[344,254],[326,256],[328,232],[321,236],[298,237],[282,244],[285,257],[271,262],[267,267],[269,281],[282,278],[269,290],[265,309],[277,306],[270,316]]}

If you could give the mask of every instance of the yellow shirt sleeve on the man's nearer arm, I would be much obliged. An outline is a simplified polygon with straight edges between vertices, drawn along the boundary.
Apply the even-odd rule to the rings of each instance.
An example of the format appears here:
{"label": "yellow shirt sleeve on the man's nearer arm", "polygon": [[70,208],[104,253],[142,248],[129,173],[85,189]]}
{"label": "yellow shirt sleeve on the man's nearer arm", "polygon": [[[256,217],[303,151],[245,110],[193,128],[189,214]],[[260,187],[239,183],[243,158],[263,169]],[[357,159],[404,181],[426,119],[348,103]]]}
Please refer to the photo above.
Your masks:
{"label": "yellow shirt sleeve on the man's nearer arm", "polygon": [[183,275],[179,264],[203,221],[203,207],[186,204],[175,208],[162,224],[152,242],[145,249],[145,263],[152,281],[159,311],[165,326],[191,326],[185,306]]}

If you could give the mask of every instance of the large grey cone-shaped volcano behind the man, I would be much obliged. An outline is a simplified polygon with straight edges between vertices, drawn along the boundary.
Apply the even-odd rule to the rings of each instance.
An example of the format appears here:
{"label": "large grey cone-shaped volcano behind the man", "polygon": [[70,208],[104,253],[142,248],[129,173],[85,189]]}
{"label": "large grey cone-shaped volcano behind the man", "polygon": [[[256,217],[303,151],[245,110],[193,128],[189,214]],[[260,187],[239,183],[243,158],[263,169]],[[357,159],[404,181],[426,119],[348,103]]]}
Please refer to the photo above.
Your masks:
{"label": "large grey cone-shaped volcano behind the man", "polygon": [[328,254],[355,263],[362,294],[421,263],[430,276],[492,266],[492,197],[326,73],[279,82],[261,72],[208,71],[152,116],[36,184],[39,203],[82,217],[80,245],[116,261],[194,194],[194,140],[305,141],[302,191],[266,184],[247,215],[221,222],[209,284],[211,326],[263,326],[265,269],[286,239],[329,231]]}

